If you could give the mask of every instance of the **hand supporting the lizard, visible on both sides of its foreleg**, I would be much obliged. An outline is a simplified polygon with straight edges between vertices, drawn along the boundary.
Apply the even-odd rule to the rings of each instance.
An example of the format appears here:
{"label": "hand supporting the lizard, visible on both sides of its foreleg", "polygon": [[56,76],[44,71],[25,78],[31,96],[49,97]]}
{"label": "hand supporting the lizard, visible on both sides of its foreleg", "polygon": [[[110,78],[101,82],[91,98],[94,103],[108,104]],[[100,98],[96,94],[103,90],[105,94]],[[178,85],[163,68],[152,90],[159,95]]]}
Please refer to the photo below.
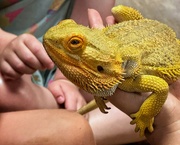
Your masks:
{"label": "hand supporting the lizard, visible on both sides of its foreleg", "polygon": [[[155,117],[154,131],[145,135],[151,144],[175,144],[180,142],[180,81],[170,85],[168,98]],[[119,89],[108,99],[127,115],[137,112],[147,94],[127,93]]]}

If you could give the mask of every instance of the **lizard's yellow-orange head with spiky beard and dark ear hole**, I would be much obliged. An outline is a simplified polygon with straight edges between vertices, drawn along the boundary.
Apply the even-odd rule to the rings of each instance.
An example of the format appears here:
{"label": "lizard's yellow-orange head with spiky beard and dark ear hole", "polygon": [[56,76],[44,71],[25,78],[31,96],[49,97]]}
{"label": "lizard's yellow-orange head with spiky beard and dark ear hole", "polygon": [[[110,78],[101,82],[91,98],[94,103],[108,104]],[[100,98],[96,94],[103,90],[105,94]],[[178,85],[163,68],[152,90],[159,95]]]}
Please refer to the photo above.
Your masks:
{"label": "lizard's yellow-orange head with spiky beard and dark ear hole", "polygon": [[123,80],[118,43],[103,30],[64,20],[46,32],[43,45],[62,73],[93,95],[112,95]]}

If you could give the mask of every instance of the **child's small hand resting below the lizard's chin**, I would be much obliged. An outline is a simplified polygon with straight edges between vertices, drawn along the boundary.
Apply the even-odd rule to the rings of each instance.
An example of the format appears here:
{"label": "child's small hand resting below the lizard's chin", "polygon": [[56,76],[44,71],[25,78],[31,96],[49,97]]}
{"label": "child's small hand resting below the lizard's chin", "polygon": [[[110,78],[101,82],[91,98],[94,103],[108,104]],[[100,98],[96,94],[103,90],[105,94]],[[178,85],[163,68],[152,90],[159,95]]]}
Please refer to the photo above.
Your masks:
{"label": "child's small hand resting below the lizard's chin", "polygon": [[54,81],[49,83],[48,89],[60,107],[67,110],[78,110],[86,104],[79,88],[67,80],[59,70],[56,71]]}

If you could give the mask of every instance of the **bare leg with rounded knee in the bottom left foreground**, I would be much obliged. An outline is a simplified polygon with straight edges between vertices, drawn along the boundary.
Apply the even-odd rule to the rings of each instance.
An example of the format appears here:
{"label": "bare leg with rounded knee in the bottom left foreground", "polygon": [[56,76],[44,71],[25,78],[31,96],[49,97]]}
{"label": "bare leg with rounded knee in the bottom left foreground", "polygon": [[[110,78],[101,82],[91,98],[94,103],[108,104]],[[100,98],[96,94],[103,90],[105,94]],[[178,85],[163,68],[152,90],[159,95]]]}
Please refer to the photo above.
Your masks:
{"label": "bare leg with rounded knee in the bottom left foreground", "polygon": [[88,122],[63,109],[1,114],[2,145],[95,145]]}

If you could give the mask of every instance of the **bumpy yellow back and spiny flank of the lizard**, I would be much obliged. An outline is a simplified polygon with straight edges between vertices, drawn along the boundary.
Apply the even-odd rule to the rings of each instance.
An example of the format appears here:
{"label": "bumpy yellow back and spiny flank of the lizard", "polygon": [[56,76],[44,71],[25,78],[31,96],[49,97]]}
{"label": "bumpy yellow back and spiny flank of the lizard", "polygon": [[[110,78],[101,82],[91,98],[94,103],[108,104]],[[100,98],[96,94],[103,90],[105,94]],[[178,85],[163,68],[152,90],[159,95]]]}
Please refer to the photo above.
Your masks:
{"label": "bumpy yellow back and spiny flank of the lizard", "polygon": [[149,19],[124,21],[105,28],[105,34],[117,39],[119,53],[128,47],[141,51],[141,73],[162,77],[167,82],[180,76],[179,40],[167,25]]}

